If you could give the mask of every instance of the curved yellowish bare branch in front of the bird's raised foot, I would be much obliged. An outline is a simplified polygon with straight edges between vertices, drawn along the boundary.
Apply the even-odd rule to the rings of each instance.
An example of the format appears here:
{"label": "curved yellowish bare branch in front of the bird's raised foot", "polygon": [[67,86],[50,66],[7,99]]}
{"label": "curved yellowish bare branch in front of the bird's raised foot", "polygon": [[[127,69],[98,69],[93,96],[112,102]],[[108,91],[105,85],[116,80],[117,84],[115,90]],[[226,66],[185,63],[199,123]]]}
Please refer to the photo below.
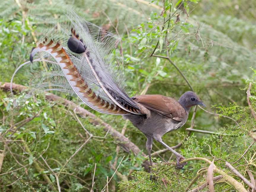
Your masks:
{"label": "curved yellowish bare branch in front of the bird's raised foot", "polygon": [[[207,162],[208,164],[211,164],[212,162],[209,159],[203,158],[203,157],[193,157],[193,158],[189,158],[189,159],[184,159],[182,161],[180,161],[180,163],[185,163],[187,161],[193,161],[193,160],[202,160]],[[247,192],[247,190],[244,188],[244,186],[239,183],[237,180],[235,180],[233,177],[231,177],[230,175],[226,174],[223,170],[218,169],[216,166],[213,169],[214,172],[219,173],[220,175],[223,176],[223,179],[229,183],[230,185],[232,185],[237,191],[239,192]]]}

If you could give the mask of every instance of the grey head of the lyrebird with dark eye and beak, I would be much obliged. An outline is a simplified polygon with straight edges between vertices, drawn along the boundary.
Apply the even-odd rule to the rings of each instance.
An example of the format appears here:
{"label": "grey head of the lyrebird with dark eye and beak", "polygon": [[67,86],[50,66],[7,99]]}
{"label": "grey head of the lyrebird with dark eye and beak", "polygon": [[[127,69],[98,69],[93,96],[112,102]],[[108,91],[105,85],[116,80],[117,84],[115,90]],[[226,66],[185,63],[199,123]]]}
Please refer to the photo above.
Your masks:
{"label": "grey head of the lyrebird with dark eye and beak", "polygon": [[181,106],[188,111],[192,106],[194,105],[204,105],[202,101],[200,101],[199,97],[194,93],[193,91],[187,91],[183,95],[180,96],[180,99],[178,100]]}

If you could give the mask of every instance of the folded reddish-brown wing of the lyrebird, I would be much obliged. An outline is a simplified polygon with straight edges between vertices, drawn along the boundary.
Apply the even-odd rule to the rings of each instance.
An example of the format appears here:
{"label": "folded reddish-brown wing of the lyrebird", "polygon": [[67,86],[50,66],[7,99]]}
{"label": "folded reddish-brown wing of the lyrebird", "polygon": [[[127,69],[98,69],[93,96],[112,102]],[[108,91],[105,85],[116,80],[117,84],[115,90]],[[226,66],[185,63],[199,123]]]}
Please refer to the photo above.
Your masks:
{"label": "folded reddish-brown wing of the lyrebird", "polygon": [[186,116],[185,109],[178,101],[163,95],[137,95],[133,99],[144,107],[175,121],[182,121]]}

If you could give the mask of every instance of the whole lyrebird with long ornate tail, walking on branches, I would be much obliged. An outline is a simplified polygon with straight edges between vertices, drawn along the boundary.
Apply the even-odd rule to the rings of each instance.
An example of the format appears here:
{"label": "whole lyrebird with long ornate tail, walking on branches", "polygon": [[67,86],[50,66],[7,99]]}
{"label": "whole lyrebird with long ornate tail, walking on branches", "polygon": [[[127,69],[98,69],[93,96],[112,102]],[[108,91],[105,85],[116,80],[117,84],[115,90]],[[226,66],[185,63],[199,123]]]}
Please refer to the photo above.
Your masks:
{"label": "whole lyrebird with long ornate tail, walking on branches", "polygon": [[199,97],[191,91],[181,95],[178,101],[162,95],[129,97],[123,88],[124,78],[106,58],[111,34],[74,14],[69,19],[70,24],[54,29],[31,51],[31,63],[36,53],[45,52],[48,60],[49,55],[54,59],[49,60],[49,65],[56,64],[54,70],[43,75],[37,86],[45,87],[44,81],[48,81],[51,89],[73,92],[96,111],[123,115],[147,137],[146,148],[151,166],[152,143],[156,140],[175,154],[177,167],[182,168],[184,164],[180,161],[184,157],[164,143],[161,137],[182,127],[193,105],[205,106]]}

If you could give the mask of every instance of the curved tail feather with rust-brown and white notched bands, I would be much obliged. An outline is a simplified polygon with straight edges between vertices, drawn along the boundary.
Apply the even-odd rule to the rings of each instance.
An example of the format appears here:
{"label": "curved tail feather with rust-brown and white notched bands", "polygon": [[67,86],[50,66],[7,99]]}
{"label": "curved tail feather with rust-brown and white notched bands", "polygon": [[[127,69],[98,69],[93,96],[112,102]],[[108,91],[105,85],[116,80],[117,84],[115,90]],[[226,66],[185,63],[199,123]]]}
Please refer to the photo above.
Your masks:
{"label": "curved tail feather with rust-brown and white notched bands", "polygon": [[57,63],[60,65],[63,73],[65,74],[65,77],[71,85],[73,91],[89,107],[101,113],[115,115],[129,114],[127,111],[124,111],[119,106],[111,104],[108,101],[102,99],[100,96],[97,96],[95,92],[93,92],[92,89],[88,87],[88,84],[81,77],[76,66],[72,63],[70,57],[67,55],[63,47],[61,47],[58,42],[54,43],[52,39],[47,42],[47,39],[45,39],[43,43],[39,43],[38,46],[36,48],[33,48],[31,52],[31,62],[33,61],[34,55],[39,51],[47,52],[55,58]]}

